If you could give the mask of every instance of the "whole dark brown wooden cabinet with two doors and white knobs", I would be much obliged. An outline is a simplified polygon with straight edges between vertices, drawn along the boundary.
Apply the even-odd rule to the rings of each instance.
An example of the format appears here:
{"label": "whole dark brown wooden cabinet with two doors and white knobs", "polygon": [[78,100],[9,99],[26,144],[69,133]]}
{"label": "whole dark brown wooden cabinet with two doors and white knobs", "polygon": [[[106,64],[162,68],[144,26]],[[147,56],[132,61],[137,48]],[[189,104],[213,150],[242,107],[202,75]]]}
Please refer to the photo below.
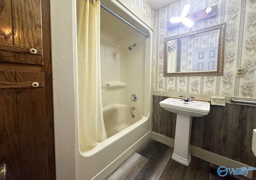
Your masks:
{"label": "whole dark brown wooden cabinet with two doors and white knobs", "polygon": [[0,164],[7,180],[55,179],[50,46],[49,0],[0,0]]}

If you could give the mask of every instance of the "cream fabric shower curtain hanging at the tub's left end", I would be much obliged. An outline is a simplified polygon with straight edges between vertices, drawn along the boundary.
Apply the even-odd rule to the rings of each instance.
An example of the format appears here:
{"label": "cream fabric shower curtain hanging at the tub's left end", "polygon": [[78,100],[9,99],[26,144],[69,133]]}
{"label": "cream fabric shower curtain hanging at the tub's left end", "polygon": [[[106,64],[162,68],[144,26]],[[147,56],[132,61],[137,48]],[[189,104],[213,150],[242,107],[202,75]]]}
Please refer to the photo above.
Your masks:
{"label": "cream fabric shower curtain hanging at the tub's left end", "polygon": [[80,150],[106,139],[100,80],[100,1],[80,0],[78,19]]}

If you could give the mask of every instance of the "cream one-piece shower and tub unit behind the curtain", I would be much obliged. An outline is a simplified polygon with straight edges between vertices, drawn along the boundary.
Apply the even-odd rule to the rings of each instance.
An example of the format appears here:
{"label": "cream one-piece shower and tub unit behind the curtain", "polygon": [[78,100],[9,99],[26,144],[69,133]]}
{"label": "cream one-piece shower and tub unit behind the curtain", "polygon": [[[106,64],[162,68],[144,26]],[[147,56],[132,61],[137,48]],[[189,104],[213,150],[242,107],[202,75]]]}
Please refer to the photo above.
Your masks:
{"label": "cream one-piece shower and tub unit behind the curtain", "polygon": [[152,30],[116,1],[102,4],[118,11],[149,37],[101,8],[102,105],[107,139],[90,150],[82,149],[77,139],[78,180],[104,179],[150,138]]}

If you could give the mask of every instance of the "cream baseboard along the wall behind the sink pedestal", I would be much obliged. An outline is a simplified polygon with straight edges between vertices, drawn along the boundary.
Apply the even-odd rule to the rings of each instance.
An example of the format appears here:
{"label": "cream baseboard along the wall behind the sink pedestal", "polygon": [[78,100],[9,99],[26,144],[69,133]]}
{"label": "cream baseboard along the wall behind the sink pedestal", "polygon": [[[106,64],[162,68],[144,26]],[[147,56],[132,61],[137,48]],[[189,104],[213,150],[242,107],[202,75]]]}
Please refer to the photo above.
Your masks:
{"label": "cream baseboard along the wall behind the sink pedestal", "polygon": [[[164,135],[160,135],[158,133],[152,132],[151,138],[162,142],[168,146],[174,147],[174,138],[170,138]],[[226,158],[224,156],[220,156],[218,154],[214,154],[210,151],[198,148],[196,146],[190,145],[190,154],[192,156],[196,156],[202,160],[208,161],[212,164],[216,164],[217,166],[225,166],[227,168],[240,168],[240,167],[251,167],[247,164],[243,164],[241,162]],[[252,178],[252,171],[248,172],[246,178]]]}

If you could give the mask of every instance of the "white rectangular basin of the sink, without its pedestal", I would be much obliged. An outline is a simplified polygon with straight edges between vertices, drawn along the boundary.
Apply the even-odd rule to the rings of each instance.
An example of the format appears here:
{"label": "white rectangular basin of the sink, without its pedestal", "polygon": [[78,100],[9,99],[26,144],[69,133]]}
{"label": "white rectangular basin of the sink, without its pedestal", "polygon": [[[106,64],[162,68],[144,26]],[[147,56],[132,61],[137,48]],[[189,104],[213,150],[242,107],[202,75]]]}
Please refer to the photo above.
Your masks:
{"label": "white rectangular basin of the sink, without its pedestal", "polygon": [[210,112],[210,103],[202,101],[185,102],[180,99],[167,98],[161,101],[160,106],[172,113],[182,113],[182,115],[202,117]]}

